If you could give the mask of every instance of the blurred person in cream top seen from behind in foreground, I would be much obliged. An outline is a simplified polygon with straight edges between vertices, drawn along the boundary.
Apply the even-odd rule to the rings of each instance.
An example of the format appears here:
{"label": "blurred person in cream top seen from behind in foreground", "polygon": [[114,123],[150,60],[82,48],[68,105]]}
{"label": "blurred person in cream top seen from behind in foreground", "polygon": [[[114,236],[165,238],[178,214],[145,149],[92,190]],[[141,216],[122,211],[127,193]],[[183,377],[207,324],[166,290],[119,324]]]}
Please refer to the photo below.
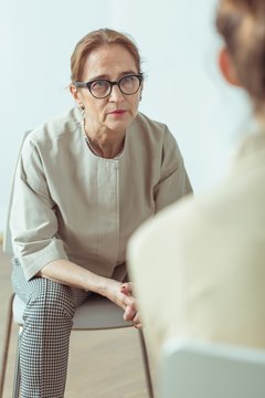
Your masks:
{"label": "blurred person in cream top seen from behind in foreground", "polygon": [[221,71],[248,93],[257,130],[219,186],[171,206],[131,238],[135,294],[155,353],[169,336],[265,347],[264,0],[221,0],[216,25]]}

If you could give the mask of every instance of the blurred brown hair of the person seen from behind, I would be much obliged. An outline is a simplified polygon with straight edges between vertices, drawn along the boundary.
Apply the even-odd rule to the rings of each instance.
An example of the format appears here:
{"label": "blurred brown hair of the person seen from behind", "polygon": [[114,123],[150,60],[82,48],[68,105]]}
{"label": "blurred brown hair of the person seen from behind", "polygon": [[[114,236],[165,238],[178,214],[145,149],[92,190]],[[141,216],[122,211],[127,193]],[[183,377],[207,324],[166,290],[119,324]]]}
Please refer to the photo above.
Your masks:
{"label": "blurred brown hair of the person seen from behind", "polygon": [[241,85],[265,122],[265,0],[220,0],[216,27]]}

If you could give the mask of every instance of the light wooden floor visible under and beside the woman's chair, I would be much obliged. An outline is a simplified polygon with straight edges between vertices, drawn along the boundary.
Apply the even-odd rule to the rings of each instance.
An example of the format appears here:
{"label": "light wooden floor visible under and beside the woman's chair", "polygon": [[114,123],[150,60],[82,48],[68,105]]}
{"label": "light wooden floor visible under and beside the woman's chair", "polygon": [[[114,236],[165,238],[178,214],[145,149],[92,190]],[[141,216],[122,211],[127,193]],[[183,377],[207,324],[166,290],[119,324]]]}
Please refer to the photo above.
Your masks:
{"label": "light wooden floor visible under and beside the woman's chair", "polygon": [[[1,356],[8,301],[11,294],[10,273],[10,259],[2,253],[0,248]],[[2,398],[11,398],[12,396],[17,331],[15,325],[13,325]],[[70,349],[65,398],[148,398],[136,329],[73,332]],[[153,368],[152,378],[155,378]]]}

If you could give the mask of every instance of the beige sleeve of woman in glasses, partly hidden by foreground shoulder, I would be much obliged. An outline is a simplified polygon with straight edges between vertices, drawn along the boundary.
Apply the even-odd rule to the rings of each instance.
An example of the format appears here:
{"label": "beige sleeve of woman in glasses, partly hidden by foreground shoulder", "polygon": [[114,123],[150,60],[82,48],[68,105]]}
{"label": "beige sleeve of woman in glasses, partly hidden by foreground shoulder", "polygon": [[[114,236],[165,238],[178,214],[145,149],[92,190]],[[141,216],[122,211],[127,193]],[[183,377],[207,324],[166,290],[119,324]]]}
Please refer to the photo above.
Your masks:
{"label": "beige sleeve of woman in glasses, partly hidden by foreground shoulder", "polygon": [[155,189],[156,212],[191,192],[192,187],[180,149],[166,126],[160,180]]}

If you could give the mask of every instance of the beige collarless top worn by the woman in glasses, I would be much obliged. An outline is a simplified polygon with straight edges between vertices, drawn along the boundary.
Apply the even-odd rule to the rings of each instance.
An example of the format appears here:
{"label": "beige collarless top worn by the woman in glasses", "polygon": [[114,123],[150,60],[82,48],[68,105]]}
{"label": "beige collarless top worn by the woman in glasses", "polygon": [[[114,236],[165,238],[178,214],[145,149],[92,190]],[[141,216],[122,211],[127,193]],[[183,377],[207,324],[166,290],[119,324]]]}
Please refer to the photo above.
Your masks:
{"label": "beige collarless top worn by the woman in glasses", "polygon": [[75,107],[25,139],[11,208],[14,253],[28,280],[49,262],[70,259],[121,281],[132,231],[190,191],[166,125],[138,114],[123,155],[105,159],[88,149]]}

